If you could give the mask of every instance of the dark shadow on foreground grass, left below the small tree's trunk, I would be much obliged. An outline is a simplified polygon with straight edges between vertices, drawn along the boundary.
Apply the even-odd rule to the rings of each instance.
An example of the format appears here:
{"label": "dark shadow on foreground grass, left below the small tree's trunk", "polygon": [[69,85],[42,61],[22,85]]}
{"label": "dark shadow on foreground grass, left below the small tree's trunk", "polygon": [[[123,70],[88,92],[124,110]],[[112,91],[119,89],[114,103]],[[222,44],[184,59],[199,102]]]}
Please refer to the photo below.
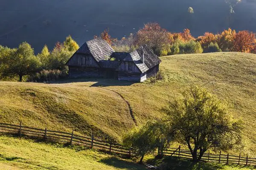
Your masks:
{"label": "dark shadow on foreground grass, left below the small tree's trunk", "polygon": [[145,170],[145,167],[140,164],[136,164],[134,162],[125,161],[122,159],[118,159],[116,157],[101,159],[99,162],[107,164],[109,166],[113,166],[119,169],[129,169],[129,170]]}

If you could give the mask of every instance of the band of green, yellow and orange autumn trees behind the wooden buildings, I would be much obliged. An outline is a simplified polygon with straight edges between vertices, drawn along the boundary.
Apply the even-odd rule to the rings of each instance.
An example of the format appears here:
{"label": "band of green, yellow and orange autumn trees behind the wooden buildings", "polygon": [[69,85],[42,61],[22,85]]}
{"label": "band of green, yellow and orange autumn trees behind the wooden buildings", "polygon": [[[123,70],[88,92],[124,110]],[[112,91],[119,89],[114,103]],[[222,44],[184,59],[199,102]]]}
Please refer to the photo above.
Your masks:
{"label": "band of green, yellow and orange autumn trees behind the wooden buildings", "polygon": [[[100,37],[116,52],[131,52],[141,45],[147,45],[158,56],[221,51],[256,54],[256,34],[250,31],[236,32],[231,28],[220,34],[205,32],[195,38],[188,28],[183,32],[171,33],[158,23],[147,23],[136,34],[120,40],[112,38],[109,30],[103,31]],[[57,42],[52,50],[44,45],[41,53],[36,55],[27,42],[21,43],[18,48],[0,45],[0,78],[20,82],[49,82],[67,77],[66,62],[78,49],[78,43],[71,36],[62,43]]]}

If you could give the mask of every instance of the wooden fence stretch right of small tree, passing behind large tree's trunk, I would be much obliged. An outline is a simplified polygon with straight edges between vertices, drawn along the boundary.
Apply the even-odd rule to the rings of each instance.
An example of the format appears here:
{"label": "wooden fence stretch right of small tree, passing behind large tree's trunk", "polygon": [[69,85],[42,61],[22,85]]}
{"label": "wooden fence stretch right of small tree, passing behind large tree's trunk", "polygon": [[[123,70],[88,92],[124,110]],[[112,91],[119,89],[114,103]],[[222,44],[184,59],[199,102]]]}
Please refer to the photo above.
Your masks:
{"label": "wooden fence stretch right of small tree, passing behind large tree's trunk", "polygon": [[[192,159],[190,150],[181,149],[180,146],[178,148],[166,147],[165,150],[163,150],[163,155],[177,156],[179,158],[185,158],[185,159]],[[219,154],[213,154],[208,151],[204,153],[201,160],[216,162],[219,164],[220,163],[244,164],[244,165],[256,166],[256,158],[248,158],[248,155],[246,157],[242,157],[241,153],[239,154],[239,156],[233,156],[233,155],[230,155],[229,153],[221,154],[221,151]]]}

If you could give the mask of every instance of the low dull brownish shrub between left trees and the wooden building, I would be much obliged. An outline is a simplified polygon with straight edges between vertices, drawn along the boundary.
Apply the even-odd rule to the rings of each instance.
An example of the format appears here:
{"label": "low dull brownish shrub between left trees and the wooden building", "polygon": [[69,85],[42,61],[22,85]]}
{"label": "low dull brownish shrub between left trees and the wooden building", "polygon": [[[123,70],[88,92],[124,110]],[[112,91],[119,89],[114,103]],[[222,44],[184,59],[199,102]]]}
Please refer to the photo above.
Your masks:
{"label": "low dull brownish shrub between left trees and the wooden building", "polygon": [[60,70],[42,70],[39,73],[36,73],[30,76],[28,82],[51,82],[57,79],[62,79],[67,77],[67,71]]}

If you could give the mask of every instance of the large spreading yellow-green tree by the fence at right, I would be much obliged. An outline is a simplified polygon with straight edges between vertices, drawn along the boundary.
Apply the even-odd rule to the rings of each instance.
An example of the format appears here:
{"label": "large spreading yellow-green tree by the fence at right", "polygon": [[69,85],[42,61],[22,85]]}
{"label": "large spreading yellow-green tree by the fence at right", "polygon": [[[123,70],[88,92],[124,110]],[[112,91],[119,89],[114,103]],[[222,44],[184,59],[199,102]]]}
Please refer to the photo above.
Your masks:
{"label": "large spreading yellow-green tree by the fence at right", "polygon": [[227,105],[204,88],[192,86],[183,91],[165,112],[169,135],[189,147],[193,161],[200,161],[210,148],[225,151],[242,146],[243,123],[233,119]]}

